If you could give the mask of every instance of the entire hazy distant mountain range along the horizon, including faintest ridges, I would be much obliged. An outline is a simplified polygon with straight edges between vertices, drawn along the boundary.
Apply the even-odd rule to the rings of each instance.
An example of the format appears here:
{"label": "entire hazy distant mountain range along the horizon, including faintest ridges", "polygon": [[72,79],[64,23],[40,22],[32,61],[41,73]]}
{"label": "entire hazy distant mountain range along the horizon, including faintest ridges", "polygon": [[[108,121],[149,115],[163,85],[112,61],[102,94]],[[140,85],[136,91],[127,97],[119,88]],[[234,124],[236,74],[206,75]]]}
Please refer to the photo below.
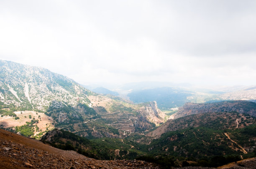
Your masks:
{"label": "entire hazy distant mountain range along the horizon, including faintest ridges", "polygon": [[[190,84],[174,84],[170,82],[134,82],[111,87],[109,90],[97,85],[84,86],[93,92],[111,94],[134,103],[156,101],[160,109],[168,111],[183,106],[186,102],[204,103],[225,100],[256,100],[256,87],[233,86],[198,88]],[[115,91],[115,92],[114,92]]]}

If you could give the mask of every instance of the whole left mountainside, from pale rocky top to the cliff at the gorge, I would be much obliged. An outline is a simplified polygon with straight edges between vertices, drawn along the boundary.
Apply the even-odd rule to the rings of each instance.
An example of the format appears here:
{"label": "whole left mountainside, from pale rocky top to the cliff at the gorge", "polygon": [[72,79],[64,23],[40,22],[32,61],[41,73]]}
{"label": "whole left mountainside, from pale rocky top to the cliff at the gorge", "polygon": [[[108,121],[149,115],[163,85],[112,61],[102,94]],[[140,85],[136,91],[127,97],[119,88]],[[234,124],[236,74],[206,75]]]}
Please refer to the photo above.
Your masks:
{"label": "whole left mountainside, from pale rocky top to the cliff at the gorge", "polygon": [[[21,111],[31,111],[26,116],[35,119],[38,116],[32,112],[44,113],[50,117],[47,123],[51,123],[51,127],[89,138],[122,138],[127,133],[151,129],[164,122],[165,117],[155,102],[132,104],[118,97],[91,92],[74,80],[47,69],[1,60],[0,126],[16,132],[19,130],[13,127],[23,126],[22,130],[30,128],[32,135],[36,134],[36,127],[26,126],[31,119],[18,114]],[[38,120],[37,125],[44,122]],[[41,129],[42,132],[47,130],[46,127]],[[40,135],[35,137],[41,136],[37,134]]]}

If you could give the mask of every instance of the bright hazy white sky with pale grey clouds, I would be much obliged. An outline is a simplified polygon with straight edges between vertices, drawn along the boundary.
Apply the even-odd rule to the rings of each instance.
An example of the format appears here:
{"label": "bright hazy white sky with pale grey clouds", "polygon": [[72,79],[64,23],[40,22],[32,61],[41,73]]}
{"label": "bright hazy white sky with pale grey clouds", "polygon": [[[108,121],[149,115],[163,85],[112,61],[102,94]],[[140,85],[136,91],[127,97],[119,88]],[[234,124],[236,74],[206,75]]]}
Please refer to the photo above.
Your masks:
{"label": "bright hazy white sky with pale grey clouds", "polygon": [[0,59],[85,85],[256,85],[256,0],[1,0]]}

